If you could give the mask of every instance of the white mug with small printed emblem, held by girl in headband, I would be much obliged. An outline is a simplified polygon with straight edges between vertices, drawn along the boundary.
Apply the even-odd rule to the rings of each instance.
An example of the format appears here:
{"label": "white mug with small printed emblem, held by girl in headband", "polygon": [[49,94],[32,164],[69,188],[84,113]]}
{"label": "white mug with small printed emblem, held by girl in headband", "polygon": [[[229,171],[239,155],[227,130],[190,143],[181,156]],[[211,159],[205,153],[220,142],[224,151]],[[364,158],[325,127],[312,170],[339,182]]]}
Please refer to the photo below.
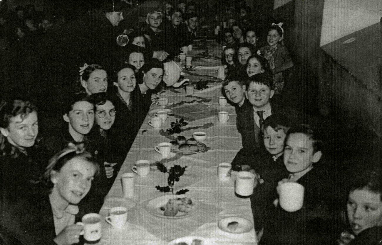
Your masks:
{"label": "white mug with small printed emblem, held by girl in headband", "polygon": [[81,235],[84,235],[84,239],[89,242],[94,242],[101,239],[102,225],[101,216],[97,213],[88,213],[82,217],[82,222],[77,224],[84,227]]}

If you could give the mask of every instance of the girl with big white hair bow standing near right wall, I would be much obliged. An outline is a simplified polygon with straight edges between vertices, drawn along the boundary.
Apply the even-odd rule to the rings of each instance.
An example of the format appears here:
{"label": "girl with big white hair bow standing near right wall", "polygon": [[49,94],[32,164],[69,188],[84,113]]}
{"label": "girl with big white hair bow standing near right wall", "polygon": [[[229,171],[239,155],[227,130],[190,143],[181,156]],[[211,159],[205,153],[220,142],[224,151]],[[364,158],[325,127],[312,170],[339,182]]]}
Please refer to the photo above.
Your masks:
{"label": "girl with big white hair bow standing near right wall", "polygon": [[[281,26],[282,23],[279,25]],[[280,26],[272,24],[272,26],[268,28],[268,45],[259,49],[261,55],[269,62],[270,69],[274,76],[274,90],[276,94],[281,93],[284,87],[283,71],[293,67],[290,54],[282,44],[284,31]]]}

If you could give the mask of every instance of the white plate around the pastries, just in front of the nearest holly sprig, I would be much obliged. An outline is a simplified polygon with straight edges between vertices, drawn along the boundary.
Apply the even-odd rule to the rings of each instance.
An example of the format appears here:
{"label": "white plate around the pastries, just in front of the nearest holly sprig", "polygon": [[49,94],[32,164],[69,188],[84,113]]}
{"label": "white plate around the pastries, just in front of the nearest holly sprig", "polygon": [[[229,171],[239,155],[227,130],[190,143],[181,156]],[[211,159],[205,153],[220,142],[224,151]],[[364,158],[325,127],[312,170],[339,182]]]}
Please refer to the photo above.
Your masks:
{"label": "white plate around the pastries, just in front of the nearest holly sprig", "polygon": [[197,202],[194,199],[191,199],[192,203],[194,204],[194,207],[191,211],[188,213],[185,212],[178,212],[176,216],[165,216],[163,213],[164,211],[160,210],[160,207],[163,207],[166,205],[168,200],[173,199],[173,198],[184,198],[187,197],[187,195],[163,195],[160,197],[155,197],[154,199],[151,199],[147,205],[146,205],[146,210],[151,213],[152,215],[155,215],[160,218],[167,218],[167,219],[179,219],[183,217],[188,217],[193,215],[197,209],[199,208],[199,202]]}

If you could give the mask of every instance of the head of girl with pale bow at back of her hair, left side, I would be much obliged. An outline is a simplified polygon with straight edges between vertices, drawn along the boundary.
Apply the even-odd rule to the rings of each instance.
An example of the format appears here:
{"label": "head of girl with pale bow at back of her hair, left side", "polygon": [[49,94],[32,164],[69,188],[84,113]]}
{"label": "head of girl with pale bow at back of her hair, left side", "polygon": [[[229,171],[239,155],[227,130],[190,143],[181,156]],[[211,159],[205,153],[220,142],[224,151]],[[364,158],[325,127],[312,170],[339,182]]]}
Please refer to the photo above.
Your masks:
{"label": "head of girl with pale bow at back of her hair, left side", "polygon": [[107,72],[106,69],[97,64],[84,64],[79,69],[79,84],[81,88],[79,91],[83,91],[88,95],[107,91]]}

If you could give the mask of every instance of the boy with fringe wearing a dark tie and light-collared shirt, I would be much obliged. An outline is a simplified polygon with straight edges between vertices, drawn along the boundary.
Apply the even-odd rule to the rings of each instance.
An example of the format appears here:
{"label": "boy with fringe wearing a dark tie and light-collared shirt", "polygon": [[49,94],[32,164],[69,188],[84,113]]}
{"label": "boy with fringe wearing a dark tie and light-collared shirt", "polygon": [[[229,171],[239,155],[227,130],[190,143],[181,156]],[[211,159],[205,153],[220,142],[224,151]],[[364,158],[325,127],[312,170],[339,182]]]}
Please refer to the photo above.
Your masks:
{"label": "boy with fringe wearing a dark tie and light-collared shirt", "polygon": [[241,165],[252,162],[254,155],[261,149],[261,127],[264,119],[275,113],[269,99],[272,98],[272,79],[264,74],[256,74],[248,78],[245,96],[252,106],[246,106],[237,111],[236,127],[241,134],[243,148],[236,154],[231,165],[232,170],[241,170]]}

